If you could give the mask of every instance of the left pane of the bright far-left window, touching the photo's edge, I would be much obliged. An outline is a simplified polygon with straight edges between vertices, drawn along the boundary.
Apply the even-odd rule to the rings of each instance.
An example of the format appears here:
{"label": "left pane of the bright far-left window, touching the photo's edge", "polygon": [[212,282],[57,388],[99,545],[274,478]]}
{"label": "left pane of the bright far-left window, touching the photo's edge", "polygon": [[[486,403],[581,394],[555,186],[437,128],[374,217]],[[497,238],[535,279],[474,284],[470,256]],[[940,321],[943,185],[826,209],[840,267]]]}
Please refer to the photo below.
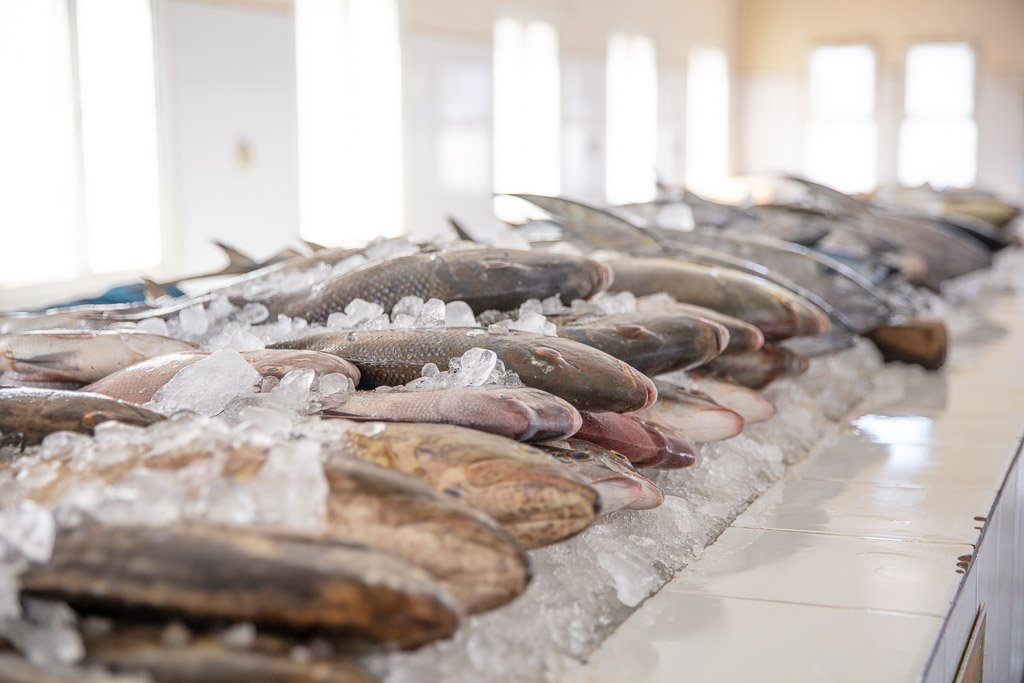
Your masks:
{"label": "left pane of the bright far-left window, touching the photo's edge", "polygon": [[0,2],[0,284],[81,270],[65,0]]}

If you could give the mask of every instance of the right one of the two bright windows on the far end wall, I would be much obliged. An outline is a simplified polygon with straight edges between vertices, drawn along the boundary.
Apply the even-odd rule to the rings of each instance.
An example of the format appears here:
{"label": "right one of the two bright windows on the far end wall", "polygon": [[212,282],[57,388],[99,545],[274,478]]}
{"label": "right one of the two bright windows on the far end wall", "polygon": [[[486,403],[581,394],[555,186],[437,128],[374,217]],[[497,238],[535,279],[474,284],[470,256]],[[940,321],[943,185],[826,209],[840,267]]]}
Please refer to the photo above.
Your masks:
{"label": "right one of the two bright windows on the far end wall", "polygon": [[899,181],[937,187],[974,183],[974,50],[967,43],[922,43],[906,55]]}

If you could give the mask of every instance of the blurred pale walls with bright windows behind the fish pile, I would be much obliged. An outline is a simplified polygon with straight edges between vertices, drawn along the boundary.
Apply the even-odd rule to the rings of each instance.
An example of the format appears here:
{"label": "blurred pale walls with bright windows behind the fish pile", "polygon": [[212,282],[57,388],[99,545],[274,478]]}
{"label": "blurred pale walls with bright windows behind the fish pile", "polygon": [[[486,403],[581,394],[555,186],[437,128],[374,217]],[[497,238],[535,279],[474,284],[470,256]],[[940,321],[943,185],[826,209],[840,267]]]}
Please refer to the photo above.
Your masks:
{"label": "blurred pale walls with bright windows behind the fish pile", "polygon": [[[0,307],[494,193],[1024,197],[1021,0],[5,0]],[[745,198],[750,199],[750,198]]]}

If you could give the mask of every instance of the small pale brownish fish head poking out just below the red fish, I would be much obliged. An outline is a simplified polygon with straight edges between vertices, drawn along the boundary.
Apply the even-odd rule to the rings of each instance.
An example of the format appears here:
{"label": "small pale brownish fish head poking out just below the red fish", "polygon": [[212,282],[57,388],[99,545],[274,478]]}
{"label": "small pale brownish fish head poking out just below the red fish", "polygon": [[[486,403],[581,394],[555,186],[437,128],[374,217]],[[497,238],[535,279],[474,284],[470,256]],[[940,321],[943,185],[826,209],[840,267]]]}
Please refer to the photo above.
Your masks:
{"label": "small pale brownish fish head poking out just below the red fish", "polygon": [[575,438],[551,441],[541,447],[597,489],[602,515],[622,509],[650,510],[665,502],[657,484],[637,472],[620,453]]}

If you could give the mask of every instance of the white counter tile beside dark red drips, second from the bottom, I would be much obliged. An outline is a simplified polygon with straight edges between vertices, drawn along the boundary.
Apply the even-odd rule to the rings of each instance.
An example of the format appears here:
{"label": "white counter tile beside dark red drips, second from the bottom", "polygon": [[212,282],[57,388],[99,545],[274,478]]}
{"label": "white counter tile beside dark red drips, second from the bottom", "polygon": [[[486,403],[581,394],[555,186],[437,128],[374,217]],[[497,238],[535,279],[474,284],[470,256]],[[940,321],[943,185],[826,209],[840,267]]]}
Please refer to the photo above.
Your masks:
{"label": "white counter tile beside dark red drips, second from the bottom", "polygon": [[663,590],[944,617],[967,544],[729,528]]}

